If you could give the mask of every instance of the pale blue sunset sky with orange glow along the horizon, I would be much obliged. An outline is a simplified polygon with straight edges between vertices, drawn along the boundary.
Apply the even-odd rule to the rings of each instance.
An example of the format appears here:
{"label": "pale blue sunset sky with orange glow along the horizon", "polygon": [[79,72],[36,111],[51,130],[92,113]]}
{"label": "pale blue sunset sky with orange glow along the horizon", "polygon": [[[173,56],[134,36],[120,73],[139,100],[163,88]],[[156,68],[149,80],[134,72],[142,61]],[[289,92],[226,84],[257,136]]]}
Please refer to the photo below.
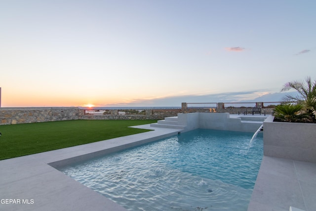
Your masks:
{"label": "pale blue sunset sky with orange glow along the horizon", "polygon": [[316,80],[315,0],[0,0],[2,107],[253,100]]}

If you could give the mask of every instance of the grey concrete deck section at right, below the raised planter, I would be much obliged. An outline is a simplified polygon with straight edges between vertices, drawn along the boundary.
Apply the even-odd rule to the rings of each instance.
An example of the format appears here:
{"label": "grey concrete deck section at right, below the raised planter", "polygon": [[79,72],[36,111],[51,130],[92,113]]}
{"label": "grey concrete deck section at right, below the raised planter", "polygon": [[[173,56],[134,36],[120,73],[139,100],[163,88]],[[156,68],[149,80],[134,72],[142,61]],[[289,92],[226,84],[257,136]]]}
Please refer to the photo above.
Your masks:
{"label": "grey concrete deck section at right, below the raised planter", "polygon": [[316,209],[316,163],[264,156],[248,211]]}

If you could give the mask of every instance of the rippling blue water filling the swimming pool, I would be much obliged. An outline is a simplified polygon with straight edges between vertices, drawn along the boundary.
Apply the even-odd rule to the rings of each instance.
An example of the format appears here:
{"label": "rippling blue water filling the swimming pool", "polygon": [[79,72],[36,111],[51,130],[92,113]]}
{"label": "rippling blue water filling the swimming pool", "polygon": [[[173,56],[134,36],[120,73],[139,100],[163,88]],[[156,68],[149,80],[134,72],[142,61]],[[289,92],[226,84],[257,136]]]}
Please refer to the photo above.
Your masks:
{"label": "rippling blue water filling the swimming pool", "polygon": [[259,133],[197,129],[60,169],[131,211],[246,211]]}

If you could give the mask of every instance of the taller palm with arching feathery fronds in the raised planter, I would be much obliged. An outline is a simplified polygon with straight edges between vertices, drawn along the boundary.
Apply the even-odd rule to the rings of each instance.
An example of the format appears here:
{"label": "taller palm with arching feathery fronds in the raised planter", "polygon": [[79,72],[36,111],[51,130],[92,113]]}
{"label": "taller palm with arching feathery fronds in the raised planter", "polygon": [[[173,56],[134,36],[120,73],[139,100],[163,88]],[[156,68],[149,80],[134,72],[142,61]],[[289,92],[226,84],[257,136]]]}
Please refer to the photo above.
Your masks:
{"label": "taller palm with arching feathery fronds in the raised planter", "polygon": [[288,91],[290,89],[295,89],[298,91],[298,95],[286,95],[282,100],[301,104],[306,110],[316,112],[316,80],[312,82],[311,77],[307,77],[305,82],[293,81],[284,84],[281,91]]}

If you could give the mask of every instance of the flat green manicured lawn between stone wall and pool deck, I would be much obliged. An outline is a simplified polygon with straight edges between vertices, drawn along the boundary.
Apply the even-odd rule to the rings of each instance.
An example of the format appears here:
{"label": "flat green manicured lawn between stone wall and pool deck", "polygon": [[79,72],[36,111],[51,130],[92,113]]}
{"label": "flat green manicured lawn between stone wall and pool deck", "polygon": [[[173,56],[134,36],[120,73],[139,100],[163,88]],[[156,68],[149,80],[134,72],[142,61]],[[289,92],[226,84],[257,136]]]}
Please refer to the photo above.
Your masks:
{"label": "flat green manicured lawn between stone wall and pool deck", "polygon": [[146,132],[157,120],[72,120],[0,126],[0,160]]}

